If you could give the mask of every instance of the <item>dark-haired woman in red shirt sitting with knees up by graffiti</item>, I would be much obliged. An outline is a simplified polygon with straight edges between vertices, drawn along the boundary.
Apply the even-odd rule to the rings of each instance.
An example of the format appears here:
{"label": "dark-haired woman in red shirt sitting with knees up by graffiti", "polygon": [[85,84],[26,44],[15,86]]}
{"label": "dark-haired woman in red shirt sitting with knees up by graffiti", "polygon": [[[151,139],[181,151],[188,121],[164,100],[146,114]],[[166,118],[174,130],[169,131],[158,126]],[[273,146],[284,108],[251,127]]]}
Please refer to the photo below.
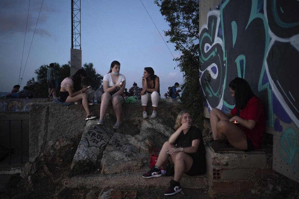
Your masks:
{"label": "dark-haired woman in red shirt sitting with knees up by graffiti", "polygon": [[219,109],[210,112],[211,133],[214,140],[227,141],[240,150],[260,148],[265,128],[261,100],[252,92],[248,82],[236,77],[229,84],[235,107],[225,115]]}

